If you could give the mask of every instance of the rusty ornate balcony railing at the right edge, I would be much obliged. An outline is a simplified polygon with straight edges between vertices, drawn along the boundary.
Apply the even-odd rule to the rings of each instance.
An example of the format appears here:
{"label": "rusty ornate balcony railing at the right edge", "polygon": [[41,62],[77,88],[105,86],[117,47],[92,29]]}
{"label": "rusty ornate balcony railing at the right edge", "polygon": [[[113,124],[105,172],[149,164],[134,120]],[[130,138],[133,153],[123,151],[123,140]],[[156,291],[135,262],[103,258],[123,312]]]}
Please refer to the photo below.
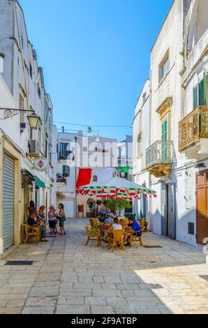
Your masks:
{"label": "rusty ornate balcony railing at the right edge", "polygon": [[201,138],[208,138],[208,106],[200,106],[179,122],[179,151],[192,147]]}

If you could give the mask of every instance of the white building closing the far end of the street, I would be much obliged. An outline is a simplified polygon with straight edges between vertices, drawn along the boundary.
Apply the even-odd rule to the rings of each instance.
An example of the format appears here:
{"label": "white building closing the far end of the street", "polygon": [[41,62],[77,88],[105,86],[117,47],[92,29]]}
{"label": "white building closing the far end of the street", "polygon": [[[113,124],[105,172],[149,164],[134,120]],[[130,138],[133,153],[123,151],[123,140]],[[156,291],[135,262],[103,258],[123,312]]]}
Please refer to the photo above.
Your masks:
{"label": "white building closing the far end of the street", "polygon": [[63,128],[58,133],[57,151],[57,203],[64,204],[69,218],[95,216],[96,197],[75,193],[79,170],[90,168],[91,181],[112,177],[117,166],[117,140],[84,136],[82,131],[70,133]]}

